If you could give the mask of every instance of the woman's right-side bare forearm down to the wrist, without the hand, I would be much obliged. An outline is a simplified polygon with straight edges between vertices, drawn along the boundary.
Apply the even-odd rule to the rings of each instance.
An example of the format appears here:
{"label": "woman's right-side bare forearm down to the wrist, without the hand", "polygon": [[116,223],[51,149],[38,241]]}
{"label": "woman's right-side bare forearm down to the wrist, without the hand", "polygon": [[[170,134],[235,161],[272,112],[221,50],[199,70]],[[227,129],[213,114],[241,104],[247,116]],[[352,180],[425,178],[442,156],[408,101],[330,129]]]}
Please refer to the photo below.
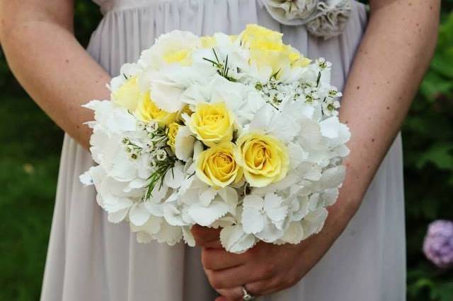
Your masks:
{"label": "woman's right-side bare forearm down to the wrist, without the hand", "polygon": [[345,182],[326,225],[339,232],[357,211],[398,134],[437,37],[440,1],[400,0],[382,6],[374,2],[378,3],[372,4],[340,109],[340,119],[352,133],[351,151],[345,160]]}

